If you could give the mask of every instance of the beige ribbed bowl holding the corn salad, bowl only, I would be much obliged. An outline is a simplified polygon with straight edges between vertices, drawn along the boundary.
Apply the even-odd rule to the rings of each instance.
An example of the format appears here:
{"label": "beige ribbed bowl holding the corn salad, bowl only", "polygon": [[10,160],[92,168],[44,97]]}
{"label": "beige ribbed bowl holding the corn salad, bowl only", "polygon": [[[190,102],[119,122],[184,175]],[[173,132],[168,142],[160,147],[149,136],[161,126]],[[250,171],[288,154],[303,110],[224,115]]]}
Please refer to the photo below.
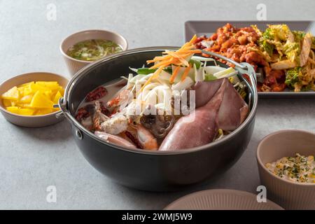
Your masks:
{"label": "beige ribbed bowl holding the corn salad, bowl only", "polygon": [[315,155],[315,134],[302,130],[283,130],[269,134],[258,145],[256,158],[260,181],[267,188],[267,197],[284,209],[315,209],[315,183],[295,183],[268,171],[267,162],[280,158]]}

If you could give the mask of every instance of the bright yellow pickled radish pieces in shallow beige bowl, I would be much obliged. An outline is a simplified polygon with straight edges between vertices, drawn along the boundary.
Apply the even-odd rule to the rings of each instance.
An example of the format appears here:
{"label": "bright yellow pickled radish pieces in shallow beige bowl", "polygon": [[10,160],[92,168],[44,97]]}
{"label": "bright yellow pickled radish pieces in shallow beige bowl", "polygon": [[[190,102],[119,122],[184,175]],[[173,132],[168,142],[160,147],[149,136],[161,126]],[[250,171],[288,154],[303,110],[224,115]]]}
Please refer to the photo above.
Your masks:
{"label": "bright yellow pickled radish pieces in shallow beige bowl", "polygon": [[3,106],[11,113],[36,116],[59,111],[54,108],[64,89],[57,82],[30,82],[12,87],[1,95]]}

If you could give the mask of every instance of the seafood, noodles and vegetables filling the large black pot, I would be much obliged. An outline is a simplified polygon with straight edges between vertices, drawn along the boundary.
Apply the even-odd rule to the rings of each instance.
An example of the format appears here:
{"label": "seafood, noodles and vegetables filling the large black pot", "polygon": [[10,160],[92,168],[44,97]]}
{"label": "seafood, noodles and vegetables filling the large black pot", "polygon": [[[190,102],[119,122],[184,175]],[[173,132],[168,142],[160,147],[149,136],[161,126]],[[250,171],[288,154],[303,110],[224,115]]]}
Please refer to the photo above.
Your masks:
{"label": "seafood, noodles and vegetables filling the large black pot", "polygon": [[196,39],[97,87],[80,104],[76,120],[125,148],[174,151],[224,138],[247,117],[246,85],[235,69],[195,56],[201,52]]}

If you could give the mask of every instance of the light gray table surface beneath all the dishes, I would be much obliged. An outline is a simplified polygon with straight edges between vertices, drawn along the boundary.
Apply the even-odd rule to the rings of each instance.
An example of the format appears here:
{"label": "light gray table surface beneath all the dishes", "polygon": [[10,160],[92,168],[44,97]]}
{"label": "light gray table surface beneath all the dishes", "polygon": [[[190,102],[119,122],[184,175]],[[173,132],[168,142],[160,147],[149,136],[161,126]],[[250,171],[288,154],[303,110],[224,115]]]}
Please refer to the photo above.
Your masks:
{"label": "light gray table surface beneath all the dishes", "polygon": [[[55,21],[47,6],[57,7]],[[69,77],[59,52],[65,36],[82,29],[123,34],[130,48],[181,45],[186,20],[314,20],[315,1],[35,1],[0,0],[0,81],[29,71]],[[125,188],[93,169],[78,151],[66,121],[38,129],[16,127],[0,116],[0,209],[162,209],[197,190],[232,188],[255,193],[260,184],[255,148],[284,129],[315,130],[315,99],[260,100],[255,130],[241,159],[216,181],[177,193]],[[46,188],[56,186],[57,202]]]}

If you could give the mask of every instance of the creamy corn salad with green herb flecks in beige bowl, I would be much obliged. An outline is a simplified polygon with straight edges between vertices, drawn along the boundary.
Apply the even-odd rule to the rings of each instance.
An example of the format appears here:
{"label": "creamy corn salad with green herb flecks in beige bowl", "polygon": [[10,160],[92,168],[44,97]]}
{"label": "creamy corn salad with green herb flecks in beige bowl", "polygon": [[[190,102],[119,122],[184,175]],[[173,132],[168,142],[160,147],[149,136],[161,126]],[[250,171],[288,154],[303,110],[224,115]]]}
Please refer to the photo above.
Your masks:
{"label": "creamy corn salad with green herb flecks in beige bowl", "polygon": [[299,153],[295,157],[283,157],[276,162],[267,163],[267,169],[272,174],[288,181],[297,183],[315,183],[314,156],[304,156]]}

